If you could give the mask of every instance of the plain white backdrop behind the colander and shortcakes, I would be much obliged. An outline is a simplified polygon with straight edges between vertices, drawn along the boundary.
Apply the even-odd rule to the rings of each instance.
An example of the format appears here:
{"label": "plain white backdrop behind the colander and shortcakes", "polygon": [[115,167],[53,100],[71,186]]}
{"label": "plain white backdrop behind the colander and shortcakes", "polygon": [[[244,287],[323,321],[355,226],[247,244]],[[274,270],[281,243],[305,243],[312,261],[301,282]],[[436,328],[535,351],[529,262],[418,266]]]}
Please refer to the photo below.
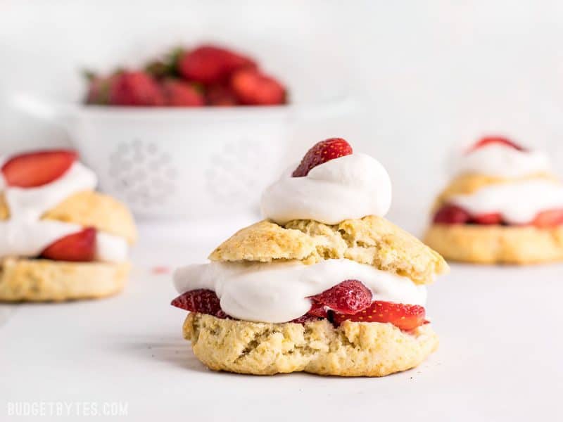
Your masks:
{"label": "plain white backdrop behind the colander and shortcakes", "polygon": [[[422,217],[451,146],[482,133],[548,148],[563,165],[562,22],[559,1],[4,0],[0,103],[16,91],[76,100],[80,68],[200,39],[254,53],[281,77],[336,70],[323,90],[346,87],[360,113],[298,132],[294,154],[344,136],[391,173],[391,217]],[[0,108],[3,149],[63,138]]]}

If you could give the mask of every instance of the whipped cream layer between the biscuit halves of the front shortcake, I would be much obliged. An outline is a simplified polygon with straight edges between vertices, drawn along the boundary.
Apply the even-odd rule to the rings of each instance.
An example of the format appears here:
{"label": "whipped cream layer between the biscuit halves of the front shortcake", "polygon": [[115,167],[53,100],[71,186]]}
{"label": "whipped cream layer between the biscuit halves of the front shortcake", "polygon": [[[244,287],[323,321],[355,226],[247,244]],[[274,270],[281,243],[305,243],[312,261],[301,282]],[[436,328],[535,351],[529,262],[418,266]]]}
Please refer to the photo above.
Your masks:
{"label": "whipped cream layer between the biscuit halves of the front shortcake", "polygon": [[306,314],[317,295],[345,280],[361,281],[373,300],[422,305],[426,287],[372,265],[352,260],[301,262],[210,262],[177,269],[179,293],[205,288],[215,291],[221,308],[245,321],[281,323]]}

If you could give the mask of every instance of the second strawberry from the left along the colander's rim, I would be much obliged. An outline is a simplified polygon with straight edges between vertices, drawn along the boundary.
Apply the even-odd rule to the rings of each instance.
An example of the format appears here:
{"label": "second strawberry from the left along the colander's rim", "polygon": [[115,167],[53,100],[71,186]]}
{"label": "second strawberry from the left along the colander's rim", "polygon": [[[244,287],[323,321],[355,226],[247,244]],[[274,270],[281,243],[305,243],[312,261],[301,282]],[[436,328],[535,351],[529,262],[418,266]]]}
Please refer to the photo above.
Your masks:
{"label": "second strawberry from the left along the colander's rim", "polygon": [[163,106],[164,96],[148,73],[125,71],[113,76],[109,103],[112,106]]}

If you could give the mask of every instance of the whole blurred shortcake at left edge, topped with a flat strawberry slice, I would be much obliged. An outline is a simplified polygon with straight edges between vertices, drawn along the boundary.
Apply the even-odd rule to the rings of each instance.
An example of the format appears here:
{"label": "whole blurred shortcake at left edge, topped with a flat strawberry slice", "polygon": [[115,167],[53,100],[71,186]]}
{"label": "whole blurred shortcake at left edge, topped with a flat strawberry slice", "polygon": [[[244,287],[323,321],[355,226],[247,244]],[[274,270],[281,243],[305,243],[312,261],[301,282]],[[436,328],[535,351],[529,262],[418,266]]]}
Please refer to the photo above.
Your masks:
{"label": "whole blurred shortcake at left edge, topped with a flat strawberry slice", "polygon": [[99,298],[123,288],[136,229],[127,208],[95,187],[74,151],[3,160],[0,300]]}

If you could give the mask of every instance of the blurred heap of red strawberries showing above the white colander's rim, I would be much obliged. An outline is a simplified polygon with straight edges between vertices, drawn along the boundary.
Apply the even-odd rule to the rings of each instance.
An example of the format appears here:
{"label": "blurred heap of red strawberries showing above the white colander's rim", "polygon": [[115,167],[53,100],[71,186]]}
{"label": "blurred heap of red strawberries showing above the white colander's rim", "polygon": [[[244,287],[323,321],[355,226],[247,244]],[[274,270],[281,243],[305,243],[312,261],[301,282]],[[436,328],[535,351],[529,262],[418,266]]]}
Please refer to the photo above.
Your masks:
{"label": "blurred heap of red strawberries showing above the white colander's rim", "polygon": [[84,103],[99,106],[277,106],[287,90],[258,63],[220,46],[175,49],[142,69],[87,74]]}

